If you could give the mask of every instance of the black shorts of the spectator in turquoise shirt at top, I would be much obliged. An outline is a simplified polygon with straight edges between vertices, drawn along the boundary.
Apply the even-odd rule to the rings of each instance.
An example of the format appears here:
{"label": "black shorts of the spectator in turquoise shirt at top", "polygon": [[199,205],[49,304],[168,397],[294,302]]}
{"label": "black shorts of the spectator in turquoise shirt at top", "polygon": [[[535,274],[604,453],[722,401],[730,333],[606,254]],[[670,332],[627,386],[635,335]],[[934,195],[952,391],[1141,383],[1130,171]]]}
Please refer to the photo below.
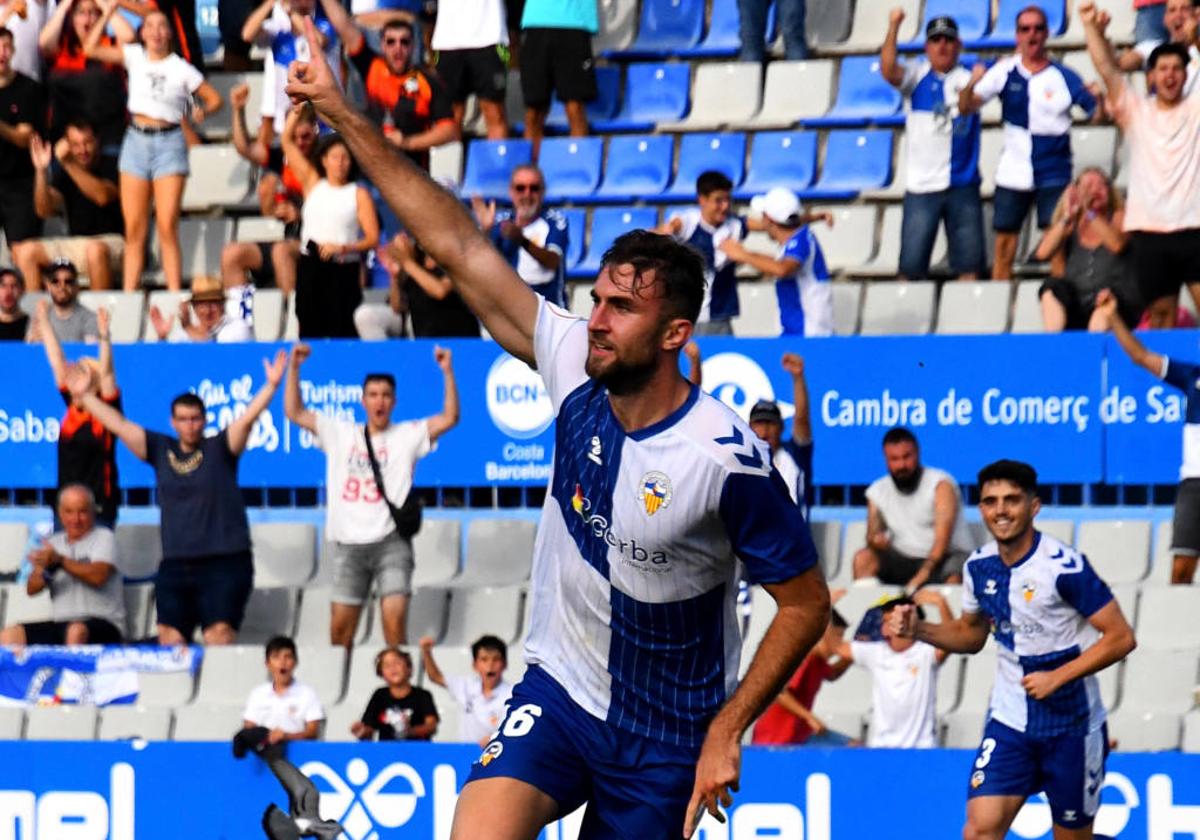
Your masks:
{"label": "black shorts of the spectator in turquoise shirt at top", "polygon": [[527,29],[521,36],[521,92],[526,106],[550,107],[551,92],[563,102],[596,97],[592,36],[582,29]]}

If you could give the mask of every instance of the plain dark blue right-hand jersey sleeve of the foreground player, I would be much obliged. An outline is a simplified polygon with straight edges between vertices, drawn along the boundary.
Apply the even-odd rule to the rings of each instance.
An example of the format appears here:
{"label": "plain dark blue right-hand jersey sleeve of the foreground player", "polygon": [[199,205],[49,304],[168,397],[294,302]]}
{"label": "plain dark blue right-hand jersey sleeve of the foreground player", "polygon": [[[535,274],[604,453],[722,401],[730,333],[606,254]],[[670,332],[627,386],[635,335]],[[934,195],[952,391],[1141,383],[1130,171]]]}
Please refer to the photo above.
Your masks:
{"label": "plain dark blue right-hand jersey sleeve of the foreground player", "polygon": [[730,473],[720,516],[750,583],[781,583],[817,563],[812,534],[779,470]]}

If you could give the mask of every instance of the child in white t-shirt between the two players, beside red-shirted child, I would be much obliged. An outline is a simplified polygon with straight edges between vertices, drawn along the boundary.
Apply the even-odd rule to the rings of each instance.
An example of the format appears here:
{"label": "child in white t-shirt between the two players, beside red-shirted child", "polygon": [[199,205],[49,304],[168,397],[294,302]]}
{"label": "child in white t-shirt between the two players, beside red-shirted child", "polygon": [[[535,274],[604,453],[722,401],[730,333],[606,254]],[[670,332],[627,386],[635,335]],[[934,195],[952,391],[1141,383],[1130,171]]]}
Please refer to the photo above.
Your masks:
{"label": "child in white t-shirt between the two players, beside red-shirted child", "polygon": [[913,638],[900,638],[887,629],[887,616],[900,605],[935,606],[943,622],[954,619],[950,607],[936,589],[919,589],[912,598],[896,598],[883,605],[883,641],[850,642],[838,654],[871,672],[871,728],[868,746],[937,746],[937,668],[947,652]]}

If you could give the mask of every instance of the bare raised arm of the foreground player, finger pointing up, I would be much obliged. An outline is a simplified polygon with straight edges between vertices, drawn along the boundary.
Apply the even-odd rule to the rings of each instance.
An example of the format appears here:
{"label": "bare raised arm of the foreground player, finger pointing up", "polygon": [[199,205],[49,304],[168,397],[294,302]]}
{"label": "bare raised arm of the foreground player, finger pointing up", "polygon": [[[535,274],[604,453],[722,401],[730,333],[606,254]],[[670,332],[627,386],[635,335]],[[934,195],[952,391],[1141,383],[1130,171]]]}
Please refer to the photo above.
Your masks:
{"label": "bare raised arm of the foreground player, finger pointing up", "polygon": [[366,116],[350,107],[318,48],[311,20],[305,22],[305,35],[312,61],[292,65],[288,95],[311,101],[342,133],[354,160],[378,186],[401,224],[454,277],[458,294],[500,347],[535,364],[538,294],[492,247],[458,199],[396,151]]}

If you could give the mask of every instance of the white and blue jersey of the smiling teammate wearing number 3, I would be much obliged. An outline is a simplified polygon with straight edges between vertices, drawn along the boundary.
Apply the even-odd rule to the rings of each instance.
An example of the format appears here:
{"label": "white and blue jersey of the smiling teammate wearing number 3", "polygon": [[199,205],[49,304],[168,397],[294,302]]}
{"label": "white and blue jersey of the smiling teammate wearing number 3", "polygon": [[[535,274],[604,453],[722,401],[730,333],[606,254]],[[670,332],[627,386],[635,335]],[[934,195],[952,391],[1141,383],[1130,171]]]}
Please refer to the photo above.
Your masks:
{"label": "white and blue jersey of the smiling teammate wearing number 3", "polygon": [[1087,619],[1112,593],[1087,558],[1049,534],[1015,565],[1000,558],[995,541],[976,550],[962,566],[962,612],[991,619],[997,642],[991,718],[1036,738],[1087,734],[1104,724],[1096,676],[1069,683],[1045,700],[1021,686],[1025,674],[1052,671],[1099,638]]}

